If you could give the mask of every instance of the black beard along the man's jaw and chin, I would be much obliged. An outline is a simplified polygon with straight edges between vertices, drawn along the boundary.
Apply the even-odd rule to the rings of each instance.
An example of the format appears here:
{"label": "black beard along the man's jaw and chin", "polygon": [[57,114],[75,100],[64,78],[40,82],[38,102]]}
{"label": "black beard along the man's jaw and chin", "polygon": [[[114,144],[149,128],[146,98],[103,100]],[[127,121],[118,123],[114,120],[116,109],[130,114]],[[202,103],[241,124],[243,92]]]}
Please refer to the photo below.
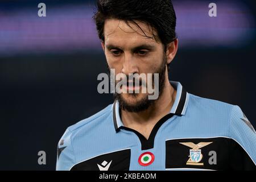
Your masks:
{"label": "black beard along the man's jaw and chin", "polygon": [[[155,73],[159,73],[159,96],[158,96],[158,99],[162,95],[164,84],[165,84],[166,65],[167,65],[167,58],[164,57],[163,63],[160,65],[160,67],[158,69],[156,69],[156,72],[155,72]],[[154,74],[153,74],[152,78],[153,78],[152,80],[154,80]],[[115,83],[115,85],[116,84],[117,83]],[[137,95],[138,95],[137,93],[129,94],[130,97],[134,97],[134,98],[136,98]],[[145,95],[145,96],[146,97],[144,97],[141,101],[138,101],[136,103],[136,105],[131,105],[122,98],[121,94],[114,93],[114,99],[119,102],[120,109],[131,112],[131,113],[138,113],[138,112],[144,111],[144,110],[148,109],[148,107],[150,107],[151,105],[153,105],[155,103],[156,100],[149,100],[148,96],[147,95]]]}

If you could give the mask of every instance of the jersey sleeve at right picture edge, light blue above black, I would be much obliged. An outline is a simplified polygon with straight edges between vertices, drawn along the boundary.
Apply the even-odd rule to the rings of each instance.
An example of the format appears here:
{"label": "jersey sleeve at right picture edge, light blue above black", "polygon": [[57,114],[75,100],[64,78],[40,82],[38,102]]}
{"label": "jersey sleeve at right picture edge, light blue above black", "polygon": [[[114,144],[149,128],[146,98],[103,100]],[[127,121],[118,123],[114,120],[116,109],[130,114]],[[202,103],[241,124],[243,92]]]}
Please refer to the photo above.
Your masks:
{"label": "jersey sleeve at right picture edge, light blue above black", "polygon": [[230,168],[256,170],[256,132],[239,106],[230,114]]}

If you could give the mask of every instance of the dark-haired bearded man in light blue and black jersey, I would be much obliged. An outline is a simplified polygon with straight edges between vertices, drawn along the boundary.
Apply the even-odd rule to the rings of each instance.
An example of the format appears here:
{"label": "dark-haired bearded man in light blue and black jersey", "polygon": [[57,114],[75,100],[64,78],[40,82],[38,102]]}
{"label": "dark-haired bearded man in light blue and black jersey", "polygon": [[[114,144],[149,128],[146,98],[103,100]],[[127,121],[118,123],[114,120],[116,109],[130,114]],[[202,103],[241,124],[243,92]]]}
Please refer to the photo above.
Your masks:
{"label": "dark-haired bearded man in light blue and black jersey", "polygon": [[[158,74],[159,96],[115,93],[112,105],[68,127],[57,170],[256,169],[256,133],[240,107],[169,81],[178,47],[170,0],[97,1],[94,20],[109,69]],[[142,81],[122,89],[141,91]]]}

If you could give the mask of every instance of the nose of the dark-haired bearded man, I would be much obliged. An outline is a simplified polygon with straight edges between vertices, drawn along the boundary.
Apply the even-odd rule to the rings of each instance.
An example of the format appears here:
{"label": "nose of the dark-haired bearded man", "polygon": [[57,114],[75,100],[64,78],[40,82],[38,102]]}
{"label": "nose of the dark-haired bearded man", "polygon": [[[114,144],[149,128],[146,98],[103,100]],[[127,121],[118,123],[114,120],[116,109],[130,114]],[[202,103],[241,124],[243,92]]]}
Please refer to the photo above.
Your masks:
{"label": "nose of the dark-haired bearded man", "polygon": [[123,67],[122,73],[129,76],[129,73],[139,73],[138,63],[135,57],[132,54],[125,54],[123,56]]}

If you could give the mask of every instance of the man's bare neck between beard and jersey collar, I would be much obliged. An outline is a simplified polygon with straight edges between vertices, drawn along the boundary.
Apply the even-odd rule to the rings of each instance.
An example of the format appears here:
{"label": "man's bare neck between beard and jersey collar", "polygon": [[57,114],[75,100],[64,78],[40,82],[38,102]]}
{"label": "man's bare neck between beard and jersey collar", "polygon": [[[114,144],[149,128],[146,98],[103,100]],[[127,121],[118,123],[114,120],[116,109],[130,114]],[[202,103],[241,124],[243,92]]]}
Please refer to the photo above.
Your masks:
{"label": "man's bare neck between beard and jersey collar", "polygon": [[138,113],[121,110],[123,125],[138,131],[148,139],[155,124],[170,113],[174,105],[176,93],[177,91],[172,87],[170,82],[166,80],[161,96],[153,105],[148,107],[148,109]]}

